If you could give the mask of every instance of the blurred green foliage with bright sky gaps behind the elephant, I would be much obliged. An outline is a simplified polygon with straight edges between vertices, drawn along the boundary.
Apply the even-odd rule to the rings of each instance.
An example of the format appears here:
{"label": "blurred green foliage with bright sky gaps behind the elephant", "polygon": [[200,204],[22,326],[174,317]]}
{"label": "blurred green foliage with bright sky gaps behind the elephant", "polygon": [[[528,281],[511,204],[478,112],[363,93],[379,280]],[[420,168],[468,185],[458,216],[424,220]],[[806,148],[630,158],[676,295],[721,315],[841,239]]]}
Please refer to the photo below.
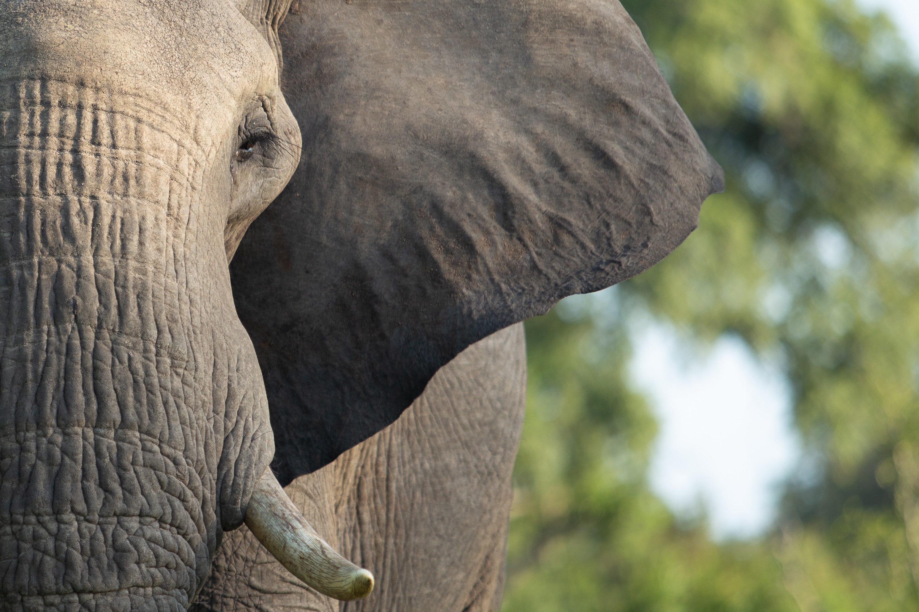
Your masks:
{"label": "blurred green foliage with bright sky gaps behind the elephant", "polygon": [[623,5],[727,186],[528,321],[502,609],[919,609],[919,0]]}

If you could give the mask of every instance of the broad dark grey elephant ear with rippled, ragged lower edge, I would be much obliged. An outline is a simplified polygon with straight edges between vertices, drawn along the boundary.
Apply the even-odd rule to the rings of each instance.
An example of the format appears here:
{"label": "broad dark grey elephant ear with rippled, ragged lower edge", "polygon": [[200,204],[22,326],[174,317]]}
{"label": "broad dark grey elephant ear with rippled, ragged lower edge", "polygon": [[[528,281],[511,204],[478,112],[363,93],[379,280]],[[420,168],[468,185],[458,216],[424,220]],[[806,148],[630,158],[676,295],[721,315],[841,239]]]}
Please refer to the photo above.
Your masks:
{"label": "broad dark grey elephant ear with rippled, ragged lower edge", "polygon": [[640,273],[723,183],[616,0],[300,2],[301,165],[232,265],[282,482],[471,343]]}

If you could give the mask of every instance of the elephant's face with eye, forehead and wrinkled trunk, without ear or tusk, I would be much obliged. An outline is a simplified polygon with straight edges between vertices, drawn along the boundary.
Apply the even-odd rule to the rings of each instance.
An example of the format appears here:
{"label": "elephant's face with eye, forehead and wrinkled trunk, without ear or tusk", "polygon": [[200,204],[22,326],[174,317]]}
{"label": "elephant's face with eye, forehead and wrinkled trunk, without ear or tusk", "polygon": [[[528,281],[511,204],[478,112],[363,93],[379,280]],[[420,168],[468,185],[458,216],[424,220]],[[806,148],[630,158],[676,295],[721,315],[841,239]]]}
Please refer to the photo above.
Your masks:
{"label": "elephant's face with eye, forehead and wrinkled trunk, without ear or tusk", "polygon": [[225,0],[68,0],[0,56],[4,604],[182,608],[274,450],[227,261],[298,160],[276,55]]}

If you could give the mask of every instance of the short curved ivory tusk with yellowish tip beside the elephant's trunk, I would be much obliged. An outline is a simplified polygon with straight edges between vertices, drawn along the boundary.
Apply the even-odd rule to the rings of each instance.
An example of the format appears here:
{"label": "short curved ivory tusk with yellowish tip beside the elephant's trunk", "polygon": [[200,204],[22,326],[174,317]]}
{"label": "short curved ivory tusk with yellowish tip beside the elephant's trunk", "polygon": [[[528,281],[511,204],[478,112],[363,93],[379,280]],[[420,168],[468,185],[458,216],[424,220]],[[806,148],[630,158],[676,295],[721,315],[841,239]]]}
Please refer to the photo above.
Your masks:
{"label": "short curved ivory tusk with yellowish tip beside the elephant's trunk", "polygon": [[347,561],[319,537],[271,468],[255,485],[245,524],[281,565],[323,595],[351,601],[373,590],[373,574]]}

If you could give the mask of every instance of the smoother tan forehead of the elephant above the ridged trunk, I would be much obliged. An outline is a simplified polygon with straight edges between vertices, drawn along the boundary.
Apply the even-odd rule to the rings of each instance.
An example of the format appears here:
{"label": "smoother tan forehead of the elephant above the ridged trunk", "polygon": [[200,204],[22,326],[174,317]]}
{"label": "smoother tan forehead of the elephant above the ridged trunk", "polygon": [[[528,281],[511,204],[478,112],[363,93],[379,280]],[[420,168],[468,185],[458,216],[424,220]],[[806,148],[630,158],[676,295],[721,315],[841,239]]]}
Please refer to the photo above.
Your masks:
{"label": "smoother tan forehead of the elephant above the ridged trunk", "polygon": [[214,119],[278,87],[267,41],[227,0],[0,3],[0,76],[153,90]]}

